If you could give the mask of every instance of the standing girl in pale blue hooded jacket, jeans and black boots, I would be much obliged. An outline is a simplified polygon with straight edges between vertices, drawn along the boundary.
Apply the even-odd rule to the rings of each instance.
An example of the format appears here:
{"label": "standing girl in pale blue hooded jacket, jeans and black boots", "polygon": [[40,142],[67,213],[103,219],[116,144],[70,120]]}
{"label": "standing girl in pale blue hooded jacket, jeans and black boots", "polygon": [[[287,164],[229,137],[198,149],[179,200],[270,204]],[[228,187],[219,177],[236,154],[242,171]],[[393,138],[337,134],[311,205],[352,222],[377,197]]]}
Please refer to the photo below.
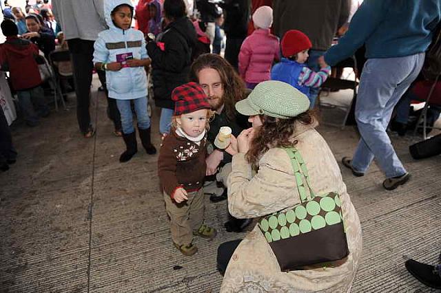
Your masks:
{"label": "standing girl in pale blue hooded jacket, jeans and black boots", "polygon": [[131,101],[136,111],[141,143],[148,154],[156,153],[150,137],[147,76],[144,69],[151,61],[145,49],[143,33],[130,28],[134,10],[130,0],[107,0],[104,5],[109,29],[100,32],[95,41],[93,62],[96,69],[105,70],[109,98],[116,99],[121,113],[126,150],[119,162],[127,162],[138,151]]}

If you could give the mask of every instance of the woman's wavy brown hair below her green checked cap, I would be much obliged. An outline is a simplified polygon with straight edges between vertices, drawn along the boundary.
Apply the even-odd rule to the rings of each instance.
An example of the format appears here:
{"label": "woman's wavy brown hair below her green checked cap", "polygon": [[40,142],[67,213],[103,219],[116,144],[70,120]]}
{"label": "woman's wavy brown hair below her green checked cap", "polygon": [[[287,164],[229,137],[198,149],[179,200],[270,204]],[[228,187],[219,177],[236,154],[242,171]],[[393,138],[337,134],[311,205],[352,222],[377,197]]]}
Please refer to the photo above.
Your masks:
{"label": "woman's wavy brown hair below her green checked cap", "polygon": [[254,168],[258,166],[258,161],[269,149],[295,146],[298,141],[293,141],[291,137],[296,130],[296,122],[304,125],[313,124],[316,121],[316,115],[314,111],[308,110],[289,119],[278,119],[261,115],[260,120],[262,121],[262,126],[254,135],[246,155],[247,161]]}

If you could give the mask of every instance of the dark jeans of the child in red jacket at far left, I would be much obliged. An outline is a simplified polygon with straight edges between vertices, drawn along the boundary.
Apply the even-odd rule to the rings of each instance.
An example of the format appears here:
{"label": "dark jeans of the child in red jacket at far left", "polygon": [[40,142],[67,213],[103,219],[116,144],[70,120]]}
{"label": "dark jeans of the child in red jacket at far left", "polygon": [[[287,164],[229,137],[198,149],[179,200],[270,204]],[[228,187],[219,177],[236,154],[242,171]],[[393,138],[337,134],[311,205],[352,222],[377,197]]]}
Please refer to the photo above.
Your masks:
{"label": "dark jeans of the child in red jacket at far left", "polygon": [[[17,91],[17,96],[19,98],[19,105],[23,111],[23,116],[27,122],[38,122],[39,115],[44,116],[49,113],[43,87],[38,86],[25,91]],[[35,108],[37,108],[37,111]]]}

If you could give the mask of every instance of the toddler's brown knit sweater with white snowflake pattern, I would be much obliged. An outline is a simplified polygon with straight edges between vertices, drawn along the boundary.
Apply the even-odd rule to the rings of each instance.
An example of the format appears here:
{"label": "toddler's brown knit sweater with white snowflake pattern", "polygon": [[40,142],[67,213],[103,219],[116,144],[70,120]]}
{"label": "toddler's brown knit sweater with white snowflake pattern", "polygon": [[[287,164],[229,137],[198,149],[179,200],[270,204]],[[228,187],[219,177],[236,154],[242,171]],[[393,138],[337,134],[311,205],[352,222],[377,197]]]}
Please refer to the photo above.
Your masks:
{"label": "toddler's brown knit sweater with white snowflake pattern", "polygon": [[172,196],[176,188],[196,191],[203,186],[207,164],[207,139],[201,145],[187,140],[173,130],[163,141],[158,158],[158,176],[167,195]]}

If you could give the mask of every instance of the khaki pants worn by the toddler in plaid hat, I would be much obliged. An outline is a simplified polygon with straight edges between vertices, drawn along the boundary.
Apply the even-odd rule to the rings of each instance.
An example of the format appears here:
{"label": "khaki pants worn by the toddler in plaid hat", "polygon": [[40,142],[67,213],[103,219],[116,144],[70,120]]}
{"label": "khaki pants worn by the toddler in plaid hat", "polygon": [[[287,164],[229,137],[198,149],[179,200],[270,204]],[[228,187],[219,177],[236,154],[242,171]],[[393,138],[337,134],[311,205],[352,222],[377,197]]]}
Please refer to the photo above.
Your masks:
{"label": "khaki pants worn by the toddler in plaid hat", "polygon": [[164,193],[165,210],[170,217],[173,242],[178,246],[188,245],[193,240],[193,230],[198,230],[204,220],[203,188],[188,193],[188,200],[177,204]]}

